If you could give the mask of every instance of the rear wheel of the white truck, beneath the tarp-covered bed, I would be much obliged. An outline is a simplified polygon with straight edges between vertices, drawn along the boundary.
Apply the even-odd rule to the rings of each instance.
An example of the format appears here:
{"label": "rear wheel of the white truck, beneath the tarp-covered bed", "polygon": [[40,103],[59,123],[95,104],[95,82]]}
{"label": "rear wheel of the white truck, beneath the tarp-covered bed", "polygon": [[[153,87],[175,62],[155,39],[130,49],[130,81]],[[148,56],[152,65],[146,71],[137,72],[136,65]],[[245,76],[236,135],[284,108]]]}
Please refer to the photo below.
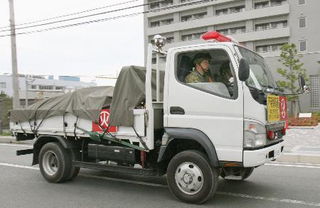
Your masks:
{"label": "rear wheel of the white truck, beneath the tarp-covered bed", "polygon": [[48,182],[67,180],[72,168],[68,150],[57,142],[46,143],[39,153],[39,168]]}

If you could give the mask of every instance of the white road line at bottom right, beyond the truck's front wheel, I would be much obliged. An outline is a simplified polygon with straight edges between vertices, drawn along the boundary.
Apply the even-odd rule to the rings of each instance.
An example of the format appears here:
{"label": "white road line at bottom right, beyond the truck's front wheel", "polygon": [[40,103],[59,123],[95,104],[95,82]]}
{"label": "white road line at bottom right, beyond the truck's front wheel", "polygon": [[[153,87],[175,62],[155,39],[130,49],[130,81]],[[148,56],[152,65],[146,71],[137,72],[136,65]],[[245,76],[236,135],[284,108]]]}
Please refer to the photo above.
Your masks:
{"label": "white road line at bottom right, beyond the truck's front wheel", "polygon": [[285,203],[291,203],[291,204],[302,204],[302,205],[320,207],[320,203],[306,202],[306,201],[302,201],[302,200],[279,199],[279,198],[273,198],[273,197],[260,197],[260,196],[252,196],[252,195],[235,194],[235,193],[230,193],[230,192],[216,192],[216,194],[228,195],[228,196],[232,196],[232,197],[242,197],[242,198],[248,198],[248,199],[261,199],[261,200],[274,201],[274,202],[285,202]]}

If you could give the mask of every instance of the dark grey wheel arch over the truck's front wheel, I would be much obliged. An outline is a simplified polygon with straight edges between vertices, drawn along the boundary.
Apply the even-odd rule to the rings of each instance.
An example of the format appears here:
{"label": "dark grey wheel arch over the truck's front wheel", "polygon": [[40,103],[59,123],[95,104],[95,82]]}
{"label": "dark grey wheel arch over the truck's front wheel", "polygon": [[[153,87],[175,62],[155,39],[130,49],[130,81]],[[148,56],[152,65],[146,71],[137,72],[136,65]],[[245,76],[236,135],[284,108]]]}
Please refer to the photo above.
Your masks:
{"label": "dark grey wheel arch over the truck's front wheel", "polygon": [[210,138],[208,138],[205,133],[194,128],[164,128],[164,130],[169,134],[170,139],[166,145],[161,146],[157,160],[158,163],[161,163],[161,161],[164,160],[166,154],[168,154],[171,144],[178,139],[198,143],[208,156],[210,165],[212,167],[219,167],[219,160],[215,151],[215,146],[213,146]]}

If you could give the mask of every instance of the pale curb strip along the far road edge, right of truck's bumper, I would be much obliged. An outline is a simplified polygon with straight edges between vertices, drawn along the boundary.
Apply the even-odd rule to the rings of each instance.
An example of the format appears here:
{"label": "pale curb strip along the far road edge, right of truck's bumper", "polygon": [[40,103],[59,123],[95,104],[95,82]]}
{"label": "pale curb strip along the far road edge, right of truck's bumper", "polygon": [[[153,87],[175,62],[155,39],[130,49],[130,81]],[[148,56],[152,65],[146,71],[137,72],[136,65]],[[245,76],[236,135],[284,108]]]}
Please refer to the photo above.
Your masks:
{"label": "pale curb strip along the far road edge, right of truck's bumper", "polygon": [[283,155],[277,158],[276,161],[287,162],[287,163],[320,164],[320,155],[283,153]]}

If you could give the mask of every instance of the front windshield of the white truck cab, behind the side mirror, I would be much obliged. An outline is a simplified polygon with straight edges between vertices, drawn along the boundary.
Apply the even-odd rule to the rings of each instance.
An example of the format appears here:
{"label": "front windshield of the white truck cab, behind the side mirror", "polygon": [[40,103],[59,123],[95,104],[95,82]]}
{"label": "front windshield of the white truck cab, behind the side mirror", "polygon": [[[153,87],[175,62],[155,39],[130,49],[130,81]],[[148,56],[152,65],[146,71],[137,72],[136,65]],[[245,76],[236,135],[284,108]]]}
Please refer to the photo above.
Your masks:
{"label": "front windshield of the white truck cab, behind the side mirror", "polygon": [[277,84],[275,84],[265,60],[250,50],[238,46],[236,48],[238,48],[242,58],[246,58],[250,65],[250,76],[247,79],[247,85],[257,89],[277,89]]}

